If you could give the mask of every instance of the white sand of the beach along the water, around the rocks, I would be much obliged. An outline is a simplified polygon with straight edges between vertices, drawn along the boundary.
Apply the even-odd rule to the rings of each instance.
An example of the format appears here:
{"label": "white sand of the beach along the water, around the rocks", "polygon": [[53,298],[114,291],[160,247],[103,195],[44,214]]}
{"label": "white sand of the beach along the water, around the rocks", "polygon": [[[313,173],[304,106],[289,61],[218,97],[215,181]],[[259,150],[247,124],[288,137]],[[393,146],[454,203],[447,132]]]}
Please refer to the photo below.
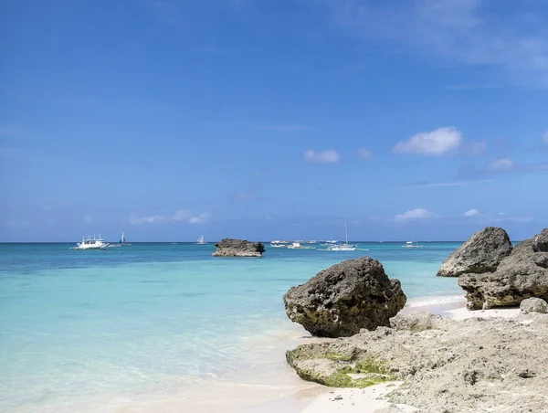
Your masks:
{"label": "white sand of the beach along the water, around the rocks", "polygon": [[[444,318],[513,317],[519,309],[469,311],[464,296],[430,296],[410,299],[400,313],[431,312]],[[192,387],[166,385],[159,391],[140,395],[117,395],[90,403],[73,401],[59,406],[43,406],[44,412],[81,411],[105,413],[172,413],[192,408],[195,413],[326,413],[374,412],[393,404],[385,395],[395,387],[389,383],[358,388],[332,388],[300,379],[287,364],[285,353],[300,344],[334,339],[316,338],[299,324],[262,334],[249,345],[248,359],[242,368],[226,376],[212,377]],[[339,398],[342,397],[342,398]],[[337,399],[335,400],[335,397]],[[398,405],[404,412],[415,408]]]}

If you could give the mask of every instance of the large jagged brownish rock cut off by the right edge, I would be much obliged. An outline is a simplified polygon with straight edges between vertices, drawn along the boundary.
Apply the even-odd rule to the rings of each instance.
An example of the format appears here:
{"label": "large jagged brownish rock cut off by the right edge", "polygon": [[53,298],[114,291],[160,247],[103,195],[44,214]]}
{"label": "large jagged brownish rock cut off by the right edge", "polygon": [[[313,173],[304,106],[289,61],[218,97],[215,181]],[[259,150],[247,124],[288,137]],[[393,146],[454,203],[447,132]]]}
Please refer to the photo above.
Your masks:
{"label": "large jagged brownish rock cut off by the right edge", "polygon": [[470,310],[517,306],[530,297],[548,300],[548,228],[516,245],[494,272],[463,274],[458,285]]}

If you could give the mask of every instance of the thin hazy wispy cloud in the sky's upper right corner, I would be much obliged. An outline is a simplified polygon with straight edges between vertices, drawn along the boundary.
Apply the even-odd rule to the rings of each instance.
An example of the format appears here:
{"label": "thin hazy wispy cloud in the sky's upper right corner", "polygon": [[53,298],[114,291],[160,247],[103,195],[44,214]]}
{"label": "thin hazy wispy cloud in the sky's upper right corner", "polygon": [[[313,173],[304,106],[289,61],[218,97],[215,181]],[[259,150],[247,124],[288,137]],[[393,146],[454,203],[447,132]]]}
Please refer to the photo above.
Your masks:
{"label": "thin hazy wispy cloud in the sky's upper right corner", "polygon": [[339,25],[365,42],[383,38],[388,48],[415,53],[436,66],[488,68],[495,75],[490,83],[548,86],[548,37],[539,2],[510,2],[510,9],[483,0],[331,4]]}

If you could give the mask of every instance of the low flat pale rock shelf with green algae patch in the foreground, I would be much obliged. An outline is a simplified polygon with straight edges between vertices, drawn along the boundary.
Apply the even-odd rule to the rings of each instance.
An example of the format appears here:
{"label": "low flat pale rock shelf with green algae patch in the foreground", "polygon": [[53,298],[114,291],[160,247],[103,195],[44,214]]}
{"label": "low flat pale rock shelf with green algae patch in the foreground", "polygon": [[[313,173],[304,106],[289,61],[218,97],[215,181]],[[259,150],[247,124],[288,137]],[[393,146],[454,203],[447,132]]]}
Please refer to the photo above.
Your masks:
{"label": "low flat pale rock shelf with green algae patch in the foreground", "polygon": [[389,400],[425,412],[548,411],[547,315],[397,319],[396,328],[300,345],[286,359],[301,378],[330,387],[404,381]]}

